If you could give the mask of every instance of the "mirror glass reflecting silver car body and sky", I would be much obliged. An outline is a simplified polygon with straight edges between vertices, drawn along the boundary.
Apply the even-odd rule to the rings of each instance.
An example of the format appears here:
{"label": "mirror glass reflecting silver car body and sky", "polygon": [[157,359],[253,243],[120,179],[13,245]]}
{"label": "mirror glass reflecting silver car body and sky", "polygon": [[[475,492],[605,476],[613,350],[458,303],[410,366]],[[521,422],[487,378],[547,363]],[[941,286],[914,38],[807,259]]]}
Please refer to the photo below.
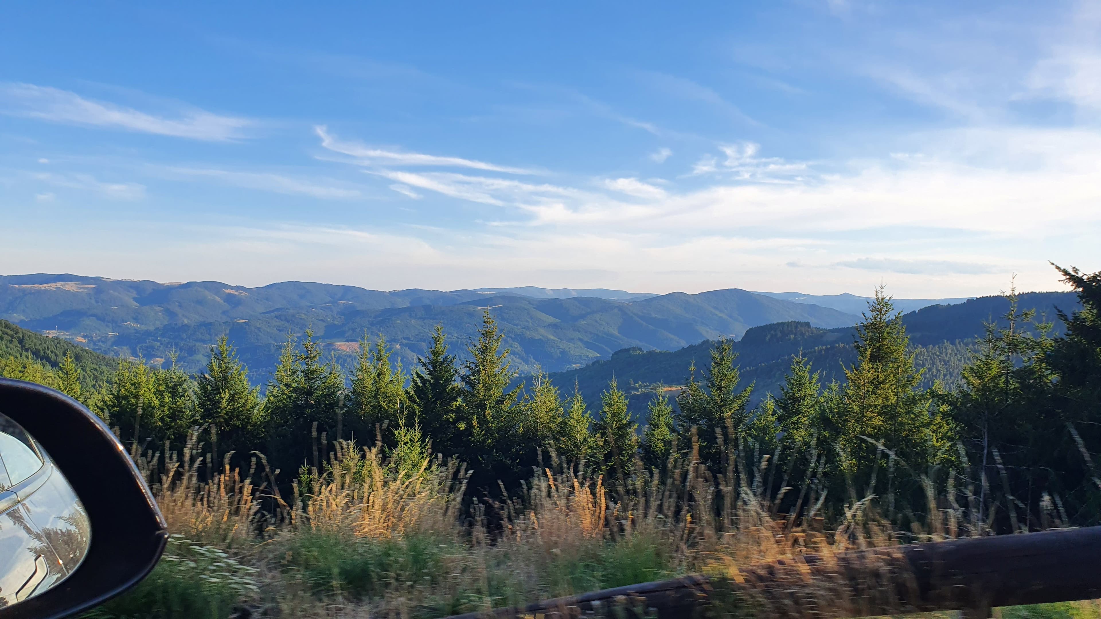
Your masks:
{"label": "mirror glass reflecting silver car body and sky", "polygon": [[84,506],[32,436],[0,413],[0,607],[56,586],[84,561]]}

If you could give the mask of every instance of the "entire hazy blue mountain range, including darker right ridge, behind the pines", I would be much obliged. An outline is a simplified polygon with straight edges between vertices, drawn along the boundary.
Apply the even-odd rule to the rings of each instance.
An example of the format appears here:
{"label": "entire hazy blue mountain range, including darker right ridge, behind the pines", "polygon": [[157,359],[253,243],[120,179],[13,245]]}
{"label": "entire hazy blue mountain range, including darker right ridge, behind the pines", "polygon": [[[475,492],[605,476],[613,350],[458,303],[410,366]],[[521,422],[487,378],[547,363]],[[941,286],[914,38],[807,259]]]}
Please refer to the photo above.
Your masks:
{"label": "entire hazy blue mountain range, including darker right ridge, behind the pines", "polygon": [[[351,365],[364,332],[372,338],[382,333],[396,358],[411,368],[436,324],[444,325],[453,352],[461,357],[489,308],[522,374],[542,367],[563,391],[577,384],[593,404],[615,378],[632,394],[631,410],[641,414],[654,391],[664,388],[675,394],[669,388],[684,383],[693,363],[698,371],[705,369],[719,337],[738,339],[744,382],[756,383],[754,400],[778,391],[792,355],[800,350],[824,382],[843,379],[842,363],[852,361],[852,325],[859,316],[813,300],[866,308],[866,298],[849,294],[816,297],[739,289],[664,295],[536,287],[383,292],[308,282],[244,287],[13,275],[0,276],[0,319],[31,330],[0,323],[0,355],[34,351],[33,357],[56,365],[65,350],[76,350],[90,371],[89,380],[101,381],[113,361],[80,350],[140,357],[154,365],[175,351],[186,370],[199,371],[209,346],[226,334],[249,365],[253,382],[262,384],[288,333],[313,328],[345,367]],[[905,310],[933,301],[959,300],[896,304]],[[1070,312],[1078,306],[1071,293],[1021,295],[1022,308],[1035,308],[1049,319],[1056,308]],[[988,296],[906,313],[903,322],[917,363],[926,369],[926,383],[951,385],[984,323],[996,321],[1007,307],[1005,298]],[[66,340],[80,348],[67,348]]]}

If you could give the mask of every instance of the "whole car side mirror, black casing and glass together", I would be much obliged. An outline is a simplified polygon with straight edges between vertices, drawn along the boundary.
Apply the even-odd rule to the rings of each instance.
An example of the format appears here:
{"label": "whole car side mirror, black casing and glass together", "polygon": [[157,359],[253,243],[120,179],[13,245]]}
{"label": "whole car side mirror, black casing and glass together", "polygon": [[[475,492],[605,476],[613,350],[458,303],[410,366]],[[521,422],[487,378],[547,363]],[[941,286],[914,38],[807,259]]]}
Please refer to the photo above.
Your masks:
{"label": "whole car side mirror, black casing and glass together", "polygon": [[102,604],[153,569],[167,536],[107,424],[53,389],[0,378],[0,619]]}

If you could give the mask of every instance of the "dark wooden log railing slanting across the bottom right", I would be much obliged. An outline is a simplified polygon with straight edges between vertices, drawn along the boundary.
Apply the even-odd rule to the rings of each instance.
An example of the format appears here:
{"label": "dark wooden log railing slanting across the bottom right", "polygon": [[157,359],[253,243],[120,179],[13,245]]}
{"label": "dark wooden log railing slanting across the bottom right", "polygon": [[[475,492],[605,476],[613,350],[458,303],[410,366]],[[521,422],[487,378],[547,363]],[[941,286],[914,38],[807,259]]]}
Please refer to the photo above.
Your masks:
{"label": "dark wooden log railing slanting across the bottom right", "polygon": [[1101,526],[802,555],[448,619],[832,618],[1101,597]]}

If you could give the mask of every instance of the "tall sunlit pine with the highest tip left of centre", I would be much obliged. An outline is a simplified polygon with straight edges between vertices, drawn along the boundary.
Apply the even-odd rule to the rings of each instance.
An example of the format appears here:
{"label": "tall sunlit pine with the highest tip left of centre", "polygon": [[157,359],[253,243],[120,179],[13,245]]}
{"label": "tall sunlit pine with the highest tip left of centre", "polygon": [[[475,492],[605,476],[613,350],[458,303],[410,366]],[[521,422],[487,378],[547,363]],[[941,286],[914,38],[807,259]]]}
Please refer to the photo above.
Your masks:
{"label": "tall sunlit pine with the highest tip left of centre", "polygon": [[478,339],[467,348],[470,358],[462,363],[459,383],[462,387],[462,409],[470,424],[470,441],[465,459],[481,461],[491,470],[481,475],[513,476],[519,470],[520,415],[516,410],[517,389],[509,389],[516,372],[511,369],[509,349],[501,350],[504,336],[486,310]]}

